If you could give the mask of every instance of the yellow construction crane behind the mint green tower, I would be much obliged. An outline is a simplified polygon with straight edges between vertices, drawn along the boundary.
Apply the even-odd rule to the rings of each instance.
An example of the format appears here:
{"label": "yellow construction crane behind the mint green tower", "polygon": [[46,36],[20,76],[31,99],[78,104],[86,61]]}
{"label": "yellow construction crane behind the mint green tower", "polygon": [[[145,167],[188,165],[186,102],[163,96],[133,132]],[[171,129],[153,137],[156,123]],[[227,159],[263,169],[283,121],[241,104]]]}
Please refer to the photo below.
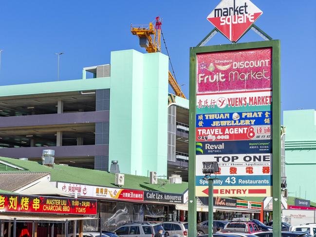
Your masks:
{"label": "yellow construction crane behind the mint green tower", "polygon": [[[160,36],[162,34],[162,31],[161,21],[159,17],[156,17],[154,24],[152,22],[150,22],[149,25],[130,24],[131,34],[138,36],[139,45],[145,48],[148,53],[161,52]],[[170,71],[168,73],[168,81],[169,85],[177,96],[186,98],[184,93],[181,91],[179,84]]]}

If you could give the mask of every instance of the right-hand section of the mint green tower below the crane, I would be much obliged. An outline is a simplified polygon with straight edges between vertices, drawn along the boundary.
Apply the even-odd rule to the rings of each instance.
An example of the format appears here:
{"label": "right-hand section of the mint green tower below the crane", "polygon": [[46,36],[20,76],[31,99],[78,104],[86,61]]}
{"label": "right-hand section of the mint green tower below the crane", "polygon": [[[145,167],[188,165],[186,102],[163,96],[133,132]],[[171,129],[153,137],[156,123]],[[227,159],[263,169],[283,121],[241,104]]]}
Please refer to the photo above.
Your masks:
{"label": "right-hand section of the mint green tower below the crane", "polygon": [[[167,175],[168,58],[144,55],[142,174]],[[154,154],[154,155],[153,155]]]}

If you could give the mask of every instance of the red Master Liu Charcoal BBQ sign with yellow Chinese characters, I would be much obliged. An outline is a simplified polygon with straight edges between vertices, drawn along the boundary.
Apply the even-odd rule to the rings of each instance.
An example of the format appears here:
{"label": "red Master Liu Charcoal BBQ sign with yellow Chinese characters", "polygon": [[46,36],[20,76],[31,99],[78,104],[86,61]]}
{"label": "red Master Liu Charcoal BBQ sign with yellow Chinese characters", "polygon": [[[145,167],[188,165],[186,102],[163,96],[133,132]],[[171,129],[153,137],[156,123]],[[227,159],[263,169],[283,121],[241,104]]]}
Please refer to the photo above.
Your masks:
{"label": "red Master Liu Charcoal BBQ sign with yellow Chinese characters", "polygon": [[0,194],[0,212],[96,215],[96,200]]}

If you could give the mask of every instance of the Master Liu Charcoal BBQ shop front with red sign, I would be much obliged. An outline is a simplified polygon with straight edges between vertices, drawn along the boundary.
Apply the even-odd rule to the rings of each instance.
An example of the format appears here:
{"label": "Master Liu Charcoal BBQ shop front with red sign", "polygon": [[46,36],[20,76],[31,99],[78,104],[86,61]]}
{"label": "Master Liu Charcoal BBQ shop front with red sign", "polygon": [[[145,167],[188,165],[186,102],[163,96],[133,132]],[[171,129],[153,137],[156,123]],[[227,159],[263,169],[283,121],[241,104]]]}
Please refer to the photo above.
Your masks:
{"label": "Master Liu Charcoal BBQ shop front with red sign", "polygon": [[0,237],[82,236],[96,214],[96,200],[0,194]]}

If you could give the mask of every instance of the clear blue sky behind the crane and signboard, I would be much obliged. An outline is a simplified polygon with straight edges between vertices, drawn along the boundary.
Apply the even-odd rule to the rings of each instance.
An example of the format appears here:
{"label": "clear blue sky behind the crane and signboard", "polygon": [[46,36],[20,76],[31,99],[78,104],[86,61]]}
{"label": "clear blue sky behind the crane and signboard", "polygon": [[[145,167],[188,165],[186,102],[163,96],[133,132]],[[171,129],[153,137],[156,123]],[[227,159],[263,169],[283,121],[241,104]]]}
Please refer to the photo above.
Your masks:
{"label": "clear blue sky behind the crane and signboard", "polygon": [[[179,84],[188,95],[189,47],[213,29],[207,15],[220,0],[32,0],[0,2],[0,85],[79,79],[83,67],[110,62],[110,52],[144,52],[130,23],[163,18],[163,32]],[[316,1],[253,0],[256,24],[281,40],[281,109],[316,109]],[[250,31],[240,42],[261,40]],[[229,43],[217,34],[209,44]],[[163,49],[163,52],[166,52]],[[171,89],[169,90],[171,91]]]}

